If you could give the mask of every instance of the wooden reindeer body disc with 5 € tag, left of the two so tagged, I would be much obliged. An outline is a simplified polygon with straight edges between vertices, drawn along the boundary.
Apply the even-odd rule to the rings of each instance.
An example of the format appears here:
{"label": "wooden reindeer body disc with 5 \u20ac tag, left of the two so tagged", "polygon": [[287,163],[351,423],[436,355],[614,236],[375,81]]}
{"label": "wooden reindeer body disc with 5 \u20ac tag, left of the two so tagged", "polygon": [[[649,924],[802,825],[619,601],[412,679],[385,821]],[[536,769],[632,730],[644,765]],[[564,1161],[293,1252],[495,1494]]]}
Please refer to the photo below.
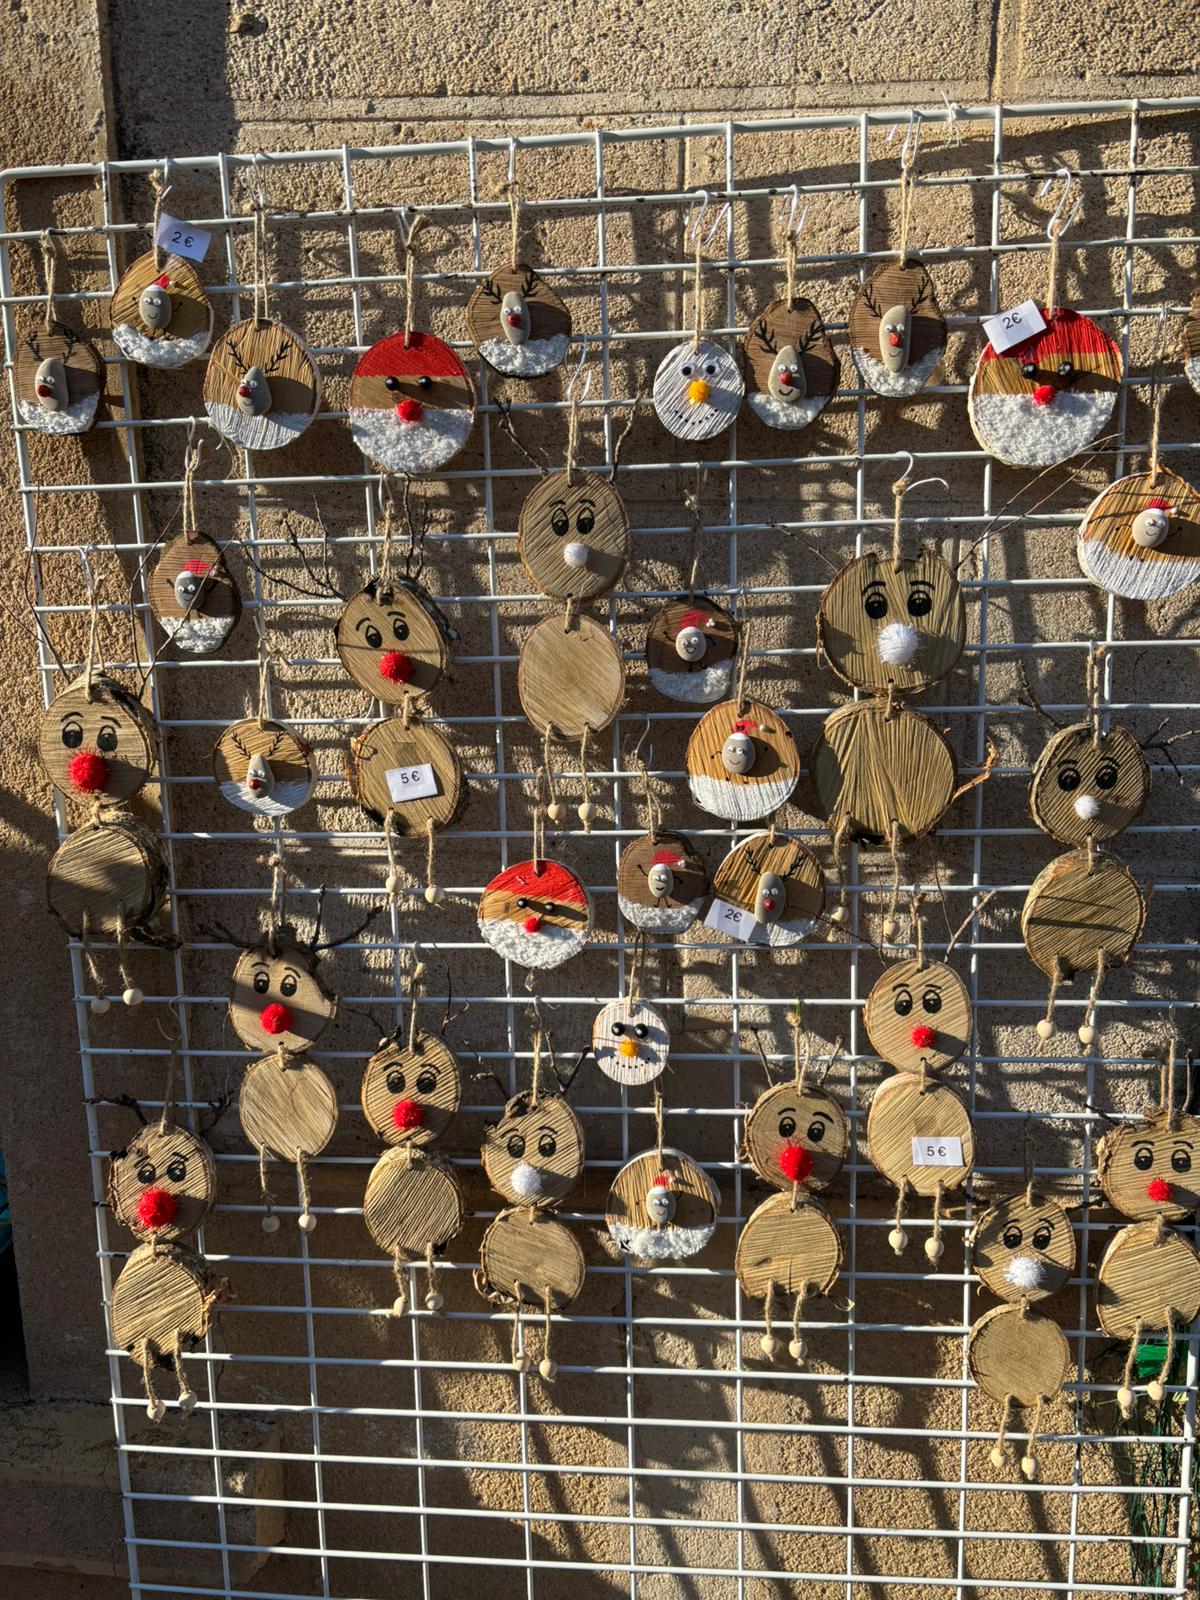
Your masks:
{"label": "wooden reindeer body disc with 5 \u20ac tag, left of the two so tagged", "polygon": [[[427,787],[429,766],[437,794],[410,800],[405,786]],[[390,813],[397,834],[426,838],[430,822],[440,832],[459,816],[467,803],[467,781],[453,746],[427,722],[413,718],[408,726],[400,717],[374,722],[350,741],[350,789],[358,805],[379,826]]]}

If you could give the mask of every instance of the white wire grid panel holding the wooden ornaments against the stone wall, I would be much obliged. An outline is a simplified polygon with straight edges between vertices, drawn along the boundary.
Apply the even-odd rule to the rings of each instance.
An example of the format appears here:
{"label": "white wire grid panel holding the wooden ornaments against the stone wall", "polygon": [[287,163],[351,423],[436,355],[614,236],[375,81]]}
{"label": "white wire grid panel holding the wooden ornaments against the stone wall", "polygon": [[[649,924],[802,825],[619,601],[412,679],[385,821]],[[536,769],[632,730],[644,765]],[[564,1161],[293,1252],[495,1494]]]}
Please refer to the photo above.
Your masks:
{"label": "white wire grid panel holding the wooden ornaments against the stone wall", "polygon": [[[427,1014],[448,1002],[469,1006],[450,1034],[464,1064],[493,1072],[509,1090],[528,1082],[530,1070],[523,974],[480,947],[474,902],[502,862],[530,850],[538,744],[515,698],[515,659],[523,632],[550,605],[530,592],[514,549],[517,509],[536,467],[499,426],[494,379],[483,371],[472,445],[442,478],[414,490],[429,534],[426,582],[459,632],[454,682],[434,698],[472,789],[453,840],[438,848],[450,899],[427,910],[422,862],[405,854],[411,874],[398,904],[330,958],[342,1011],[328,1048],[314,1054],[338,1083],[342,1114],[333,1146],[312,1163],[320,1227],[310,1238],[291,1226],[294,1205],[283,1208],[274,1238],[261,1234],[256,1160],[237,1117],[227,1114],[210,1136],[221,1195],[202,1248],[237,1298],[189,1357],[202,1392],[194,1418],[184,1422],[171,1408],[163,1427],[147,1429],[136,1373],[109,1350],[134,1595],[440,1597],[485,1570],[496,1592],[530,1597],[741,1597],[792,1592],[800,1582],[818,1597],[1083,1597],[1130,1592],[1126,1544],[1139,1560],[1157,1562],[1138,1592],[1187,1590],[1195,1338],[1184,1341],[1187,1384],[1174,1392],[1178,1430],[1163,1446],[1163,1488],[1154,1498],[1120,1480],[1118,1442],[1149,1448],[1154,1440],[1118,1434],[1114,1373],[1096,1366],[1109,1341],[1096,1331],[1093,1274],[1117,1224],[1091,1203],[1090,1173],[1102,1130],[1094,1109],[1138,1109],[1147,1046],[1165,1037],[1170,1002],[1192,992],[1186,896],[1195,890],[1194,851],[1179,846],[1194,843],[1195,824],[1174,779],[1190,779],[1194,747],[1174,746],[1170,762],[1152,750],[1152,806],[1118,846],[1142,878],[1154,878],[1155,898],[1138,957],[1102,997],[1102,1051],[1088,1054],[1075,1042],[1077,990],[1061,997],[1064,1026],[1042,1051],[1034,1021],[1045,997],[1016,918],[1054,846],[1026,808],[1029,757],[1045,730],[1018,699],[1013,669],[1024,659],[1046,709],[1069,718],[1082,710],[1088,642],[1102,640],[1106,715],[1131,720],[1142,738],[1163,718],[1168,734],[1187,723],[1190,611],[1147,613],[1098,597],[1077,573],[1072,528],[1094,490],[1131,470],[1146,446],[1158,307],[1186,307],[1195,261],[1197,106],[984,107],[955,110],[950,122],[944,110],[926,115],[912,242],[938,278],[952,342],[944,382],[899,405],[856,387],[843,347],[854,282],[894,246],[899,138],[888,139],[890,114],[520,138],[523,253],[571,304],[576,354],[587,334],[594,381],[582,464],[611,466],[630,400],[648,389],[677,331],[690,328],[682,230],[699,187],[733,202],[728,246],[717,259],[725,235],[714,242],[706,272],[714,336],[733,346],[754,307],[779,293],[771,213],[795,178],[810,206],[798,286],[821,306],[842,355],[838,398],[795,440],[742,418],[698,454],[670,440],[648,406],[635,416],[618,475],[635,560],[626,587],[598,608],[630,664],[629,696],[606,747],[592,750],[597,824],[587,837],[576,829],[550,846],[578,866],[598,907],[595,949],[541,986],[558,1054],[574,1059],[595,1010],[629,979],[630,930],[616,912],[614,867],[646,821],[629,762],[646,720],[666,826],[694,837],[710,869],[734,837],[686,800],[680,757],[694,714],[656,699],[634,666],[650,610],[686,584],[693,533],[685,494],[699,488],[701,584],[750,630],[749,688],[787,709],[806,749],[843,698],[814,656],[816,597],[830,563],[886,538],[890,483],[910,451],[914,475],[939,474],[950,488],[944,496],[936,486],[918,491],[906,525],[917,531],[920,518],[926,536],[970,555],[968,666],[923,709],[946,722],[968,771],[981,765],[989,738],[1000,747],[990,781],[906,861],[906,882],[928,894],[930,949],[944,949],[944,930],[981,893],[997,891],[957,957],[978,1016],[973,1051],[950,1074],[978,1130],[973,1202],[950,1211],[949,1248],[936,1270],[922,1270],[928,1214],[915,1222],[907,1258],[886,1248],[891,1197],[862,1139],[866,1107],[886,1069],[870,1054],[859,1016],[880,971],[870,939],[880,938],[886,862],[864,853],[853,862],[848,938],[818,933],[789,955],[738,949],[694,928],[677,944],[650,949],[645,990],[675,1026],[667,1142],[701,1158],[723,1197],[717,1240],[704,1254],[645,1267],[602,1243],[608,1182],[629,1155],[653,1144],[653,1107],[648,1090],[621,1093],[586,1064],[571,1098],[587,1130],[587,1181],[563,1216],[584,1243],[587,1285],[555,1326],[554,1387],[515,1374],[504,1318],[470,1285],[496,1203],[477,1162],[483,1120],[499,1102],[496,1083],[483,1078],[469,1086],[442,1144],[475,1213],[440,1262],[446,1314],[386,1315],[390,1269],[360,1218],[379,1152],[357,1085],[379,1034],[405,1014],[414,942],[429,966]],[[248,611],[275,651],[272,709],[315,742],[322,778],[315,802],[274,832],[232,813],[216,794],[211,744],[253,707],[251,621],[218,658],[166,651],[154,662],[162,829],[171,917],[184,944],[171,957],[134,954],[146,1006],[134,1016],[117,1005],[104,1019],[90,1016],[90,984],[72,946],[88,1096],[133,1093],[147,1112],[160,1106],[171,1013],[181,1030],[182,1114],[203,1120],[205,1102],[237,1086],[246,1056],[224,1021],[234,950],[213,922],[250,936],[266,904],[262,859],[272,840],[283,848],[290,910],[301,922],[320,882],[330,885],[333,938],[379,899],[382,843],[349,800],[342,752],[381,707],[346,683],[328,630],[339,602],[315,589],[298,557],[304,550],[317,571],[328,562],[347,590],[378,555],[376,480],[363,470],[338,405],[355,354],[402,325],[394,208],[418,202],[438,224],[418,264],[418,326],[461,344],[470,285],[507,250],[498,186],[509,150],[507,138],[480,138],[171,163],[168,210],[214,229],[203,270],[226,278],[210,285],[218,331],[246,315],[248,202],[253,182],[264,182],[272,307],[306,336],[326,374],[328,410],[286,451],[227,453],[202,419],[206,451],[197,483],[200,526],[234,541],[230,562]],[[1038,202],[1037,190],[1059,165],[1078,174],[1085,195],[1064,250],[1062,298],[1120,339],[1126,382],[1115,442],[1077,475],[1029,490],[1026,475],[995,467],[970,437],[965,376],[981,344],[978,317],[1042,290],[1053,197]],[[3,174],[6,198],[53,194],[69,264],[61,301],[91,328],[104,325],[120,264],[146,248],[152,168],[128,160]],[[80,211],[80,195],[99,197],[98,218]],[[42,221],[11,227],[0,250],[10,374],[18,330],[40,310],[30,262]],[[146,662],[157,646],[144,573],[155,544],[178,526],[202,368],[146,373],[117,362],[107,342],[104,350],[110,405],[83,453],[19,429],[16,451],[46,629],[66,656],[82,659],[77,539],[80,528],[102,525],[106,538],[88,544],[104,582],[101,637],[109,664],[130,670],[131,650]],[[526,451],[560,464],[563,384],[547,379],[501,395],[512,402],[512,427]],[[1163,456],[1186,470],[1195,408],[1174,374],[1165,416]],[[62,680],[45,648],[40,664],[50,699]],[[576,766],[578,752],[563,752],[571,803]],[[798,802],[782,824],[824,851],[805,790]],[[66,832],[64,811],[58,822]],[[115,986],[112,950],[101,947],[98,960]],[[845,1275],[835,1299],[806,1312],[813,1358],[803,1371],[760,1358],[760,1307],[742,1299],[731,1270],[736,1230],[763,1198],[738,1160],[744,1107],[765,1086],[749,1029],[760,1029],[774,1072],[787,1072],[786,1014],[797,995],[819,1054],[829,1054],[835,1037],[845,1040],[829,1085],[858,1134],[832,1192],[846,1238]],[[99,1205],[104,1155],[128,1134],[128,1117],[98,1106],[86,1115],[107,1302],[128,1240]],[[995,1408],[974,1394],[965,1362],[966,1331],[994,1302],[973,1280],[963,1242],[979,1198],[1021,1182],[1026,1125],[1042,1181],[1077,1205],[1082,1262],[1054,1302],[1078,1374],[1050,1413],[1042,1478],[1032,1486],[1019,1482],[1014,1464],[990,1467]],[[421,1299],[418,1293],[418,1307]],[[277,1474],[262,1472],[264,1450]],[[1130,1534],[1126,1507],[1139,1499],[1142,1510],[1154,1502],[1160,1522]]]}

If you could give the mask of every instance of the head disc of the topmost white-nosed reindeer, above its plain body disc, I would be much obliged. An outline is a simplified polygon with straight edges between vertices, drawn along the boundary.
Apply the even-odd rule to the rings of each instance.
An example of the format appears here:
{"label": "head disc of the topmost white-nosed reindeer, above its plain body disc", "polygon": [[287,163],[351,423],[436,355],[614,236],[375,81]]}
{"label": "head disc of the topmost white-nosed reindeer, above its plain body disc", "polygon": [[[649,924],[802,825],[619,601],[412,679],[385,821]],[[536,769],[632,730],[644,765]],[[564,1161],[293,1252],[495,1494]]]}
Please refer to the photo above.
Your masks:
{"label": "head disc of the topmost white-nosed reindeer, above its plain body disc", "polygon": [[[517,554],[544,595],[590,600],[608,594],[629,560],[629,517],[621,496],[595,472],[550,472],[522,506]],[[574,565],[568,565],[566,554]]]}

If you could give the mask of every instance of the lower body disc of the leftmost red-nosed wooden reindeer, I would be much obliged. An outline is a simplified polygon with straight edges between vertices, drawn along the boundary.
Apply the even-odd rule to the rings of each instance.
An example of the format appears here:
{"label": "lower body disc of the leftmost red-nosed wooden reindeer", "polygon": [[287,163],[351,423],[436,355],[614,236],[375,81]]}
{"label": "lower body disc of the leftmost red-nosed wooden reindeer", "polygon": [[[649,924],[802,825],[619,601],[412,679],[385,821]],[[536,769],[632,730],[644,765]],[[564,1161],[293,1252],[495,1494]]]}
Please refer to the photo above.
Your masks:
{"label": "lower body disc of the leftmost red-nosed wooden reindeer", "polygon": [[67,933],[115,934],[144,928],[166,898],[166,859],[157,835],[122,816],[86,822],[64,838],[46,869],[46,902]]}

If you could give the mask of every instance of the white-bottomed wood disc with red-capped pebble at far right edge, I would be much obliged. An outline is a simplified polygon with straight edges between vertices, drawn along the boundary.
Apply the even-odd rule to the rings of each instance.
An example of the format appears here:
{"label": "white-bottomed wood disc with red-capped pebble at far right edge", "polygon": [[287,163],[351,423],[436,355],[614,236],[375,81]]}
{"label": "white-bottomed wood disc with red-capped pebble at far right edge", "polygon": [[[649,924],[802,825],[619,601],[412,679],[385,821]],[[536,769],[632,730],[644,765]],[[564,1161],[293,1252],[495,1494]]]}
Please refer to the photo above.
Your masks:
{"label": "white-bottomed wood disc with red-capped pebble at far right edge", "polygon": [[[1200,371],[1200,360],[1197,360]],[[1134,520],[1162,501],[1168,533],[1162,544],[1133,538]],[[1083,576],[1125,600],[1165,600],[1200,578],[1200,494],[1178,472],[1134,472],[1117,478],[1083,514],[1075,544]]]}

